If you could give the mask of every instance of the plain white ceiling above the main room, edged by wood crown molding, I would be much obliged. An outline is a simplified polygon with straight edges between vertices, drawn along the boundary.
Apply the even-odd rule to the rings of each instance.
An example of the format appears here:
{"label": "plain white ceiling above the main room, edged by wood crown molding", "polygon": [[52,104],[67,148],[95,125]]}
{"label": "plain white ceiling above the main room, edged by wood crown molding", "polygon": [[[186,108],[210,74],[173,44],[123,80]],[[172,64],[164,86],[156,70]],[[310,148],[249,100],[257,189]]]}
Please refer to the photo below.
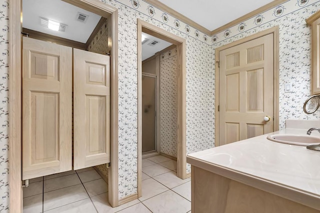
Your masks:
{"label": "plain white ceiling above the main room, edged by wood crown molding", "polygon": [[273,0],[159,0],[212,31]]}

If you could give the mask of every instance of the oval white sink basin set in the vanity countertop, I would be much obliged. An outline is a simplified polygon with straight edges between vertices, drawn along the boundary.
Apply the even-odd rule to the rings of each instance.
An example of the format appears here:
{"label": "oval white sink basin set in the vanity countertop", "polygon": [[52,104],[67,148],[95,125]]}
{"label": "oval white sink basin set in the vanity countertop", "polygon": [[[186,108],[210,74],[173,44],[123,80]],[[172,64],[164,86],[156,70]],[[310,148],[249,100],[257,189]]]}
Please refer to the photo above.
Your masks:
{"label": "oval white sink basin set in the vanity countertop", "polygon": [[275,142],[282,142],[292,145],[314,145],[320,143],[320,137],[298,134],[272,134],[266,137]]}

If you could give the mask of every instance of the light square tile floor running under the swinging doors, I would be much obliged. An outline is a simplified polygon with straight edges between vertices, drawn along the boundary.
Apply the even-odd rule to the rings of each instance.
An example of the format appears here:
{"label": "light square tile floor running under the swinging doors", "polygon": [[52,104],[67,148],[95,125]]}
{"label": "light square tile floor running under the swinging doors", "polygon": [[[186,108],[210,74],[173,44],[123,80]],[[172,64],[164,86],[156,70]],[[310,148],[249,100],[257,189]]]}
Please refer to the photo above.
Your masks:
{"label": "light square tile floor running under the swinging doors", "polygon": [[142,159],[142,196],[112,208],[107,183],[92,168],[29,180],[23,188],[23,213],[191,212],[190,178],[176,176],[176,161],[162,155]]}

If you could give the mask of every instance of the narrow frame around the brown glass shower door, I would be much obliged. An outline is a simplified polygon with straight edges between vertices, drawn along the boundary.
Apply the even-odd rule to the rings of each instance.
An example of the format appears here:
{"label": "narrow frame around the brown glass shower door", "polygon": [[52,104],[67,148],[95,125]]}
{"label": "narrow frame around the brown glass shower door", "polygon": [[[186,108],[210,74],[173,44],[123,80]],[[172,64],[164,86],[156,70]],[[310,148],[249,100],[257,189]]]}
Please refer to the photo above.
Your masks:
{"label": "narrow frame around the brown glass shower door", "polygon": [[[156,60],[157,57],[154,57],[154,59]],[[157,63],[157,62],[156,62]],[[156,68],[158,69],[158,68]],[[156,73],[158,73],[158,70],[156,70]],[[153,151],[149,151],[147,153],[144,153],[143,155],[152,155],[152,154],[159,154],[160,153],[160,143],[158,141],[158,136],[159,136],[159,115],[160,115],[160,110],[159,110],[159,105],[160,105],[160,95],[159,95],[159,87],[158,87],[158,75],[157,74],[150,74],[150,73],[146,73],[146,72],[141,72],[142,76],[146,76],[146,77],[153,77],[155,78],[155,129],[154,129],[154,140],[155,140],[155,150]],[[142,85],[141,85],[142,86]],[[142,90],[141,90],[142,91]],[[141,96],[141,101],[142,101],[142,96]],[[141,140],[142,142],[142,140]],[[142,146],[141,146],[142,147]]]}

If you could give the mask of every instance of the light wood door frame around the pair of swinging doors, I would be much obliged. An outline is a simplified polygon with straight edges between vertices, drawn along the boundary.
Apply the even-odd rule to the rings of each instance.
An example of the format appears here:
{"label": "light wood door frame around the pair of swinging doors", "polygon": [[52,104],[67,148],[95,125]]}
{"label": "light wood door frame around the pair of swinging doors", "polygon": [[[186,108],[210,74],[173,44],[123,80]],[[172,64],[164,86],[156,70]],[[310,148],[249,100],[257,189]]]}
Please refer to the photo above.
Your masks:
{"label": "light wood door frame around the pair of swinging doors", "polygon": [[[113,6],[99,0],[64,0],[75,6],[105,16],[111,28],[108,48],[111,49],[111,138],[110,161],[108,168],[108,194],[111,206],[117,206],[118,198],[118,11]],[[21,0],[9,0],[9,212],[22,212],[22,173],[21,173]]]}

